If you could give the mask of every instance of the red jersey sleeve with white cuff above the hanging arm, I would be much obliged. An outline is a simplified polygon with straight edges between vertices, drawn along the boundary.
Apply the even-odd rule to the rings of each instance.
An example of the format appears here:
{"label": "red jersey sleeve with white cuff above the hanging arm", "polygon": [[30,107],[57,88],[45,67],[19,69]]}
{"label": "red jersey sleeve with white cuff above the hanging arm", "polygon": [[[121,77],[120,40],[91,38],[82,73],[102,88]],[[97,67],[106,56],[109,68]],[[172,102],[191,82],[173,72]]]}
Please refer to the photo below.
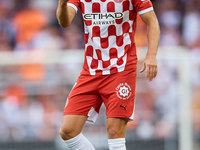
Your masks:
{"label": "red jersey sleeve with white cuff above the hanging arm", "polygon": [[153,10],[153,5],[150,0],[132,0],[133,6],[139,15]]}

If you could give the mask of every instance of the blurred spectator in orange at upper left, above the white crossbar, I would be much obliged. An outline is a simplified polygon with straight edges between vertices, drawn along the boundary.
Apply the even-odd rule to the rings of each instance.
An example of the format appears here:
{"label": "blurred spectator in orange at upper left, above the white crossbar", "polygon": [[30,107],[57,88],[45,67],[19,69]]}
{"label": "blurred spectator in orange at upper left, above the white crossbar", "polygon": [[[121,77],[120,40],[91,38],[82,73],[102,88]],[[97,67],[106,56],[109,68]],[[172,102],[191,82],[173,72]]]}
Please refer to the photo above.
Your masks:
{"label": "blurred spectator in orange at upper left, above the white crossbar", "polygon": [[16,30],[15,50],[31,49],[31,41],[35,34],[42,30],[48,23],[46,15],[37,9],[28,7],[19,11],[13,19],[13,27]]}

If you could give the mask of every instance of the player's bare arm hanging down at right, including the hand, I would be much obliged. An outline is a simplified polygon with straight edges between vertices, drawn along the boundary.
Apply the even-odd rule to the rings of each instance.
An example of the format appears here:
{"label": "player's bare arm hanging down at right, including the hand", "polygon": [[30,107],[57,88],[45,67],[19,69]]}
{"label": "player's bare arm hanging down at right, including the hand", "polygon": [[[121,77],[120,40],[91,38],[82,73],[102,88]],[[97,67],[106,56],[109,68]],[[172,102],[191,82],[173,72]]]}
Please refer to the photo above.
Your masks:
{"label": "player's bare arm hanging down at right, including the hand", "polygon": [[155,78],[157,75],[156,54],[160,39],[160,28],[157,17],[153,10],[141,14],[140,17],[147,26],[147,40],[148,40],[148,51],[140,72],[143,72],[146,69],[146,78],[149,81],[152,81],[153,78]]}

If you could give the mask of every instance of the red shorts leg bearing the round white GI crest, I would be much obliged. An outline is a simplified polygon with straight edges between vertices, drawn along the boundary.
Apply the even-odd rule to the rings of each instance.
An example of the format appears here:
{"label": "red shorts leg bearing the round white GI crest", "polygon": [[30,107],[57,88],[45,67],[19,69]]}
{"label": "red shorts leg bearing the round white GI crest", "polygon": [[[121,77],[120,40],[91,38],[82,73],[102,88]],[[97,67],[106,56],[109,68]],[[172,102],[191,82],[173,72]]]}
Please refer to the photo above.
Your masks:
{"label": "red shorts leg bearing the round white GI crest", "polygon": [[102,84],[100,94],[106,106],[107,118],[133,120],[136,69],[110,75]]}

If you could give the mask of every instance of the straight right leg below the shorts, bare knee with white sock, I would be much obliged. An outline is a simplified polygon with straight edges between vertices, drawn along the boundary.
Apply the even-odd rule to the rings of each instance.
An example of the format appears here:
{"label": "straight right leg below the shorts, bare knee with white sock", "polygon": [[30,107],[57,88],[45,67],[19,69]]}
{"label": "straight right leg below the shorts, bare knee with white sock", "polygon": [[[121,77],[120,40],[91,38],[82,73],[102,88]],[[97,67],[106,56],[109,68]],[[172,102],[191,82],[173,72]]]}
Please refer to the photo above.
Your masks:
{"label": "straight right leg below the shorts, bare knee with white sock", "polygon": [[128,119],[107,118],[109,150],[126,150],[125,135]]}

